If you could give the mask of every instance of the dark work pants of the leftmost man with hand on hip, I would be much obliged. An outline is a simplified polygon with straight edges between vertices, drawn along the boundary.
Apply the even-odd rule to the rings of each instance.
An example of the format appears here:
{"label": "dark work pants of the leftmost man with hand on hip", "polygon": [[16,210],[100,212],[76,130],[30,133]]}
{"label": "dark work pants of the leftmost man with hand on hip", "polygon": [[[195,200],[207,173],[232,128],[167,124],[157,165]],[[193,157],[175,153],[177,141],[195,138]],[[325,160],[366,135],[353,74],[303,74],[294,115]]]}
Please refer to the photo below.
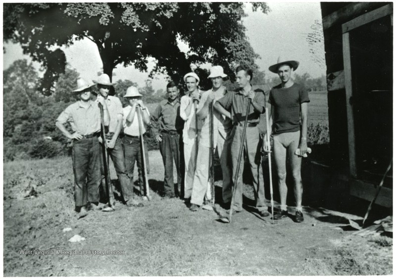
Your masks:
{"label": "dark work pants of the leftmost man with hand on hip", "polygon": [[98,137],[74,140],[72,149],[76,206],[99,201],[100,149]]}

